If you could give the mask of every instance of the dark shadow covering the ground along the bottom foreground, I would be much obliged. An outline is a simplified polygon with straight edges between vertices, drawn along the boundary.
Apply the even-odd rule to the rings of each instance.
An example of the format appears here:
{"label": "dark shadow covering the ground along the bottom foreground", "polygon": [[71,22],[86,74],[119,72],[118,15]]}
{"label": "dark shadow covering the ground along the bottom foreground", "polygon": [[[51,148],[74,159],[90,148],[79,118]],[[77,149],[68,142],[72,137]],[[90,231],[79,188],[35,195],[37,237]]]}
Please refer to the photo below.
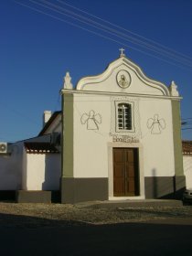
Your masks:
{"label": "dark shadow covering the ground along the bottom foreground", "polygon": [[192,226],[91,225],[0,214],[1,255],[192,255]]}

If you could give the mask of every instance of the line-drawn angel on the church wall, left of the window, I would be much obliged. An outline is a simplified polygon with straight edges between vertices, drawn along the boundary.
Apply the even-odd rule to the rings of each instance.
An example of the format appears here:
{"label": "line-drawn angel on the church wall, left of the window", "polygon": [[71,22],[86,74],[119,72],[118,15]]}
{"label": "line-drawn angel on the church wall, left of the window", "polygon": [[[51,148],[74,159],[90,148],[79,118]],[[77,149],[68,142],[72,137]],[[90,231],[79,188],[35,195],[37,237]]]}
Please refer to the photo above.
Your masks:
{"label": "line-drawn angel on the church wall, left of the window", "polygon": [[83,113],[80,118],[80,123],[87,123],[87,130],[99,130],[99,124],[101,124],[101,114],[90,111],[89,113]]}

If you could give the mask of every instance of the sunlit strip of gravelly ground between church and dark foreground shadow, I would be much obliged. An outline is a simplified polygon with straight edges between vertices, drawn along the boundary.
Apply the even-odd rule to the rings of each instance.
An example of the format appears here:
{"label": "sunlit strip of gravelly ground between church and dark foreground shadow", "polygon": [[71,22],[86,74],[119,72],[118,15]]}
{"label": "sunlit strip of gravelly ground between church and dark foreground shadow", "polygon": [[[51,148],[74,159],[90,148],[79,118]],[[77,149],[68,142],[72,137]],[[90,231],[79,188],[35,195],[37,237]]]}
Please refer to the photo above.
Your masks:
{"label": "sunlit strip of gravelly ground between church and dark foreground shadow", "polygon": [[[4,225],[26,226],[43,225],[57,221],[79,223],[114,224],[125,222],[145,222],[164,219],[192,218],[192,206],[177,208],[96,208],[95,205],[84,204],[16,204],[0,203],[0,219]],[[13,218],[14,217],[14,218]],[[14,222],[15,219],[22,221]],[[39,219],[38,222],[33,219]],[[26,219],[26,220],[25,220]]]}

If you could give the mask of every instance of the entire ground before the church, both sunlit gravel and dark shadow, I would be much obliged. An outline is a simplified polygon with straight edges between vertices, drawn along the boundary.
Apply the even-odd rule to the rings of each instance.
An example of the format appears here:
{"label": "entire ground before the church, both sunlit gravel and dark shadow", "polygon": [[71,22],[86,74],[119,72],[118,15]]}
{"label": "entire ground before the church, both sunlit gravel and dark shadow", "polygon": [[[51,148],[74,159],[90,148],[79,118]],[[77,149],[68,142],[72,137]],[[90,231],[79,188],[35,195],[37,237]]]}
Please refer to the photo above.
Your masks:
{"label": "entire ground before the church, both sunlit gravel and dark shadow", "polygon": [[1,256],[191,256],[192,206],[0,203]]}

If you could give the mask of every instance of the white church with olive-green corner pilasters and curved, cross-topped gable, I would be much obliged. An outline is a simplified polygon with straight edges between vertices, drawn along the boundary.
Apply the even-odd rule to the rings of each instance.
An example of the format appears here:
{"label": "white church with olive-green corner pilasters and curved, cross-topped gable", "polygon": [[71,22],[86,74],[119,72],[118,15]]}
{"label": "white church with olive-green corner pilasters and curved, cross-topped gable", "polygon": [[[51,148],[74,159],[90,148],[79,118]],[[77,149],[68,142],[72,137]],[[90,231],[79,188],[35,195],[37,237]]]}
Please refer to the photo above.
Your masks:
{"label": "white church with olive-green corner pilasters and curved, cross-topped gable", "polygon": [[180,100],[121,49],[118,59],[62,97],[62,203],[171,198],[186,187]]}

